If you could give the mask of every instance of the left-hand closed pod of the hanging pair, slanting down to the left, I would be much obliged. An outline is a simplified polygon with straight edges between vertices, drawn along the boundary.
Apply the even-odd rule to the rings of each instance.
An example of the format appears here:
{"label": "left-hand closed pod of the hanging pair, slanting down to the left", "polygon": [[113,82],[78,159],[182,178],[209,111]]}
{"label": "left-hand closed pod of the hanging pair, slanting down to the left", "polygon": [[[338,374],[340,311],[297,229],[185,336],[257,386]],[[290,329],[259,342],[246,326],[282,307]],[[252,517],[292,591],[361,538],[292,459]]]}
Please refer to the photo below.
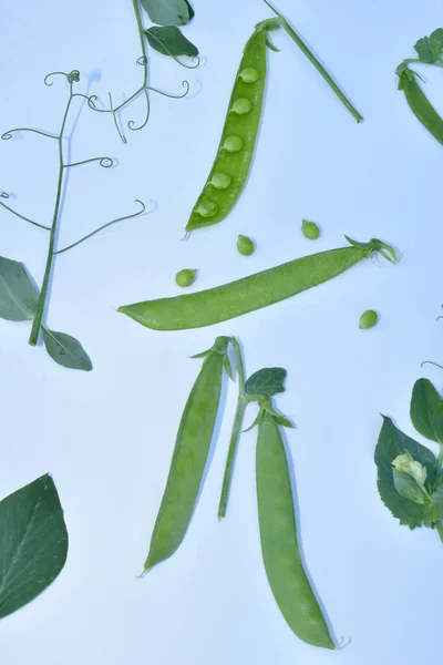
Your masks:
{"label": "left-hand closed pod of the hanging pair, slanting down to the left", "polygon": [[210,448],[227,361],[228,337],[217,337],[183,411],[169,474],[151,538],[144,571],[177,550],[189,525]]}

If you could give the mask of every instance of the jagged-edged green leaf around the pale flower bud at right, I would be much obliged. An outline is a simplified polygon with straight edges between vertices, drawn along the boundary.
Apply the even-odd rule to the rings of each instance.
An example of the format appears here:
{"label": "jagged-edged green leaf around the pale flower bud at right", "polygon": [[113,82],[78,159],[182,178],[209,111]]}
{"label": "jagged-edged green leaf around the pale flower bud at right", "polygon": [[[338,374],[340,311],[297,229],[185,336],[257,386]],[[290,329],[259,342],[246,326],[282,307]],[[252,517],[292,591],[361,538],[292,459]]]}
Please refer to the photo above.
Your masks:
{"label": "jagged-edged green leaf around the pale flower bud at right", "polygon": [[433,511],[437,510],[437,505],[434,502],[426,507],[412,503],[396,491],[392,462],[405,451],[410,452],[414,460],[425,467],[429,482],[432,487],[436,477],[435,456],[427,448],[400,431],[390,418],[383,416],[383,426],[374,456],[380,497],[384,505],[391,511],[394,518],[400,520],[401,524],[406,524],[410,529],[415,529],[415,526],[421,526],[425,520],[430,519],[426,515],[433,514]]}

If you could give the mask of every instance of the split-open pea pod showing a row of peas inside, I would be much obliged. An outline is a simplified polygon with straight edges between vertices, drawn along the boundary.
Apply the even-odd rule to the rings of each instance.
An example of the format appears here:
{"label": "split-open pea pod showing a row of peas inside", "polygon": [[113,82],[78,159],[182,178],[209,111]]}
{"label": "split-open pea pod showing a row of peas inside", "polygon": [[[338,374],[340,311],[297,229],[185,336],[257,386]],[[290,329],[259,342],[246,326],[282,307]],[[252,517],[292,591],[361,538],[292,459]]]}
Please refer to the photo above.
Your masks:
{"label": "split-open pea pod showing a row of peas inside", "polygon": [[186,225],[189,233],[225,219],[245,186],[253,160],[266,82],[266,33],[246,43],[217,156]]}

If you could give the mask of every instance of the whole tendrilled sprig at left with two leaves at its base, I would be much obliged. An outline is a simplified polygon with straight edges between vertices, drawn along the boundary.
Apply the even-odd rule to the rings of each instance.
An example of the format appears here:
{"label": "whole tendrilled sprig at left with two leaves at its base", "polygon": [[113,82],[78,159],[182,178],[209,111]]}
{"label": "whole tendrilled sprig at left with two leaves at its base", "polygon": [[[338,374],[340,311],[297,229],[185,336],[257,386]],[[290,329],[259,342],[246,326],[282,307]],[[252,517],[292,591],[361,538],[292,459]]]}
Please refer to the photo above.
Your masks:
{"label": "whole tendrilled sprig at left with two leaves at its base", "polygon": [[69,335],[65,335],[64,332],[56,332],[54,330],[50,330],[47,326],[43,325],[43,318],[48,308],[49,285],[54,257],[58,254],[63,254],[69,249],[80,245],[81,243],[96,235],[99,232],[103,231],[104,228],[107,228],[112,224],[124,219],[138,217],[142,213],[145,212],[146,208],[145,204],[142,201],[136,200],[135,203],[137,203],[140,209],[135,213],[112,219],[111,222],[101,225],[92,233],[89,233],[86,236],[75,241],[66,247],[63,247],[61,249],[56,248],[58,232],[60,223],[62,221],[62,196],[68,184],[69,171],[73,167],[92,163],[97,163],[103,168],[110,168],[114,165],[114,160],[107,156],[99,156],[82,160],[80,162],[66,161],[64,142],[66,141],[66,139],[69,139],[70,141],[72,140],[72,133],[70,136],[66,136],[65,130],[66,123],[70,117],[70,112],[72,110],[72,104],[76,100],[90,101],[90,98],[83,93],[74,91],[74,84],[80,82],[80,72],[78,70],[73,70],[70,73],[52,72],[45,76],[45,85],[51,86],[53,84],[52,78],[55,75],[65,79],[69,86],[68,101],[64,108],[59,133],[52,134],[49,132],[41,132],[39,130],[33,130],[29,127],[16,127],[13,130],[4,132],[1,136],[3,141],[8,141],[12,139],[12,136],[17,133],[33,132],[39,135],[42,135],[45,139],[50,139],[51,141],[56,142],[59,167],[56,176],[55,202],[52,214],[52,223],[49,226],[40,224],[18,213],[10,205],[4,203],[4,200],[10,198],[9,194],[7,192],[0,193],[0,198],[3,200],[0,201],[0,206],[16,215],[18,218],[28,222],[33,226],[38,226],[39,228],[42,228],[45,232],[49,232],[47,262],[40,293],[38,291],[33,282],[30,279],[23,264],[19,264],[18,262],[0,257],[0,318],[16,321],[31,319],[32,327],[29,338],[29,344],[31,346],[37,345],[40,331],[42,331],[45,348],[49,355],[56,362],[71,369],[91,370],[91,359],[89,358],[87,354],[76,339]]}

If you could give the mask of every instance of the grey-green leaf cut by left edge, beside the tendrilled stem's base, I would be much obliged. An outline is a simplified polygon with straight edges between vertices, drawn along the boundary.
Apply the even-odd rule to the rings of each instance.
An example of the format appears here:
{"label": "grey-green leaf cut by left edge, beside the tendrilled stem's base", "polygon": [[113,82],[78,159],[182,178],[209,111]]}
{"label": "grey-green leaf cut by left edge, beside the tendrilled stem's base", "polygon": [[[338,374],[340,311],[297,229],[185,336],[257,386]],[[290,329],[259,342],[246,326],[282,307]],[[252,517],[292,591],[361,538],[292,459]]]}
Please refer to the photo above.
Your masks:
{"label": "grey-green leaf cut by left edge, beside the tendrilled stem's base", "polygon": [[9,321],[33,319],[39,291],[22,263],[0,256],[0,318]]}

